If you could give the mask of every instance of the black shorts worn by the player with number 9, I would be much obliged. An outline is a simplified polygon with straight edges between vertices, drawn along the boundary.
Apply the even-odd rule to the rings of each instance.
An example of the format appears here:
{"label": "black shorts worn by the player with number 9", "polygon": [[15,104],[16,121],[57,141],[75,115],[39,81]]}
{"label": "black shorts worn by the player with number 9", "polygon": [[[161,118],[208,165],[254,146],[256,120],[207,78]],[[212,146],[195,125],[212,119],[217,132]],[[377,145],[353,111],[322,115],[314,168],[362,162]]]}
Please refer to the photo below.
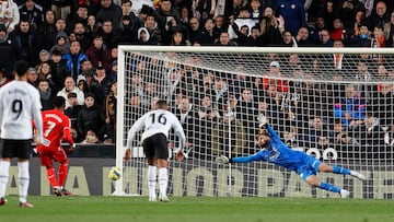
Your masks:
{"label": "black shorts worn by the player with number 9", "polygon": [[32,140],[0,139],[0,157],[30,159],[32,152]]}

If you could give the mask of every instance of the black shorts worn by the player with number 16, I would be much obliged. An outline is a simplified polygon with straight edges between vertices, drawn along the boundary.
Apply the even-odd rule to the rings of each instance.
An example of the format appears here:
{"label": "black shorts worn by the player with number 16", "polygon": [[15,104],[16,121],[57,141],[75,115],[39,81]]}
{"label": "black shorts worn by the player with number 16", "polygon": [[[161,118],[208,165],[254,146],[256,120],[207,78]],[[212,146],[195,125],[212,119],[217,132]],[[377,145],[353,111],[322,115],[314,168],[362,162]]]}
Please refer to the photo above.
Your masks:
{"label": "black shorts worn by the player with number 16", "polygon": [[147,159],[169,159],[167,139],[163,133],[144,139],[142,147]]}

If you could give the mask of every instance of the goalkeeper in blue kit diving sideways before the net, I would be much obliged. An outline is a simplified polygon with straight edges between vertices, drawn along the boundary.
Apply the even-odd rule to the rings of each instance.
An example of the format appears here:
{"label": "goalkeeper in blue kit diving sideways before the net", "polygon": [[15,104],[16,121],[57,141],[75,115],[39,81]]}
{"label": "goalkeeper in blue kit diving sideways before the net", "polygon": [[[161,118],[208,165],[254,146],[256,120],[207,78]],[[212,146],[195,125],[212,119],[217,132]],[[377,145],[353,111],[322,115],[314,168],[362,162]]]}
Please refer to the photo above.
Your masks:
{"label": "goalkeeper in blue kit diving sideways before the net", "polygon": [[316,176],[317,172],[329,172],[334,174],[351,175],[358,179],[366,180],[366,176],[358,172],[336,165],[327,165],[316,160],[314,156],[308,155],[304,152],[290,149],[280,140],[279,136],[267,124],[267,119],[264,115],[260,115],[258,117],[258,120],[262,129],[258,135],[257,145],[262,150],[248,156],[229,159],[221,155],[217,157],[218,163],[228,164],[266,161],[268,163],[274,163],[275,165],[286,167],[289,171],[294,171],[308,184],[318,187],[321,189],[338,192],[341,198],[348,198],[350,196],[350,192],[332,184],[321,182]]}

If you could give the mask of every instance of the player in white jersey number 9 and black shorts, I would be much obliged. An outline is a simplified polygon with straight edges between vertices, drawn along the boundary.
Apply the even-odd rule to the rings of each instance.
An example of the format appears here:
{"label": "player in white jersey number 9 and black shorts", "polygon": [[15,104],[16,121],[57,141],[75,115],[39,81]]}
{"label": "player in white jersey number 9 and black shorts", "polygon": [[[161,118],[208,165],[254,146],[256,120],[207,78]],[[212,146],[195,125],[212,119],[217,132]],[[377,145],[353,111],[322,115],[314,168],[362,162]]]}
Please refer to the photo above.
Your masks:
{"label": "player in white jersey number 9 and black shorts", "polygon": [[33,208],[27,202],[30,183],[28,159],[32,152],[34,119],[36,142],[43,137],[43,119],[38,90],[27,83],[28,63],[15,62],[15,80],[0,89],[0,206],[7,202],[5,188],[12,157],[18,157],[20,207]]}

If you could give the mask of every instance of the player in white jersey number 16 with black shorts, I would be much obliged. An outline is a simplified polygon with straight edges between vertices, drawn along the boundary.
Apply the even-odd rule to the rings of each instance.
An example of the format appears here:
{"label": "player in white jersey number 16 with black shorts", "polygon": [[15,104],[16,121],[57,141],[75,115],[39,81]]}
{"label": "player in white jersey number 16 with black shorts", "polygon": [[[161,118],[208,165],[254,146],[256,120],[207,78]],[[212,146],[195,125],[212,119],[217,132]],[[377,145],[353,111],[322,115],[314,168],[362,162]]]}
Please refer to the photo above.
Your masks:
{"label": "player in white jersey number 16 with black shorts", "polygon": [[179,138],[179,151],[176,154],[177,161],[183,161],[183,149],[186,143],[185,132],[176,116],[169,112],[165,101],[157,102],[157,109],[148,112],[140,117],[130,128],[127,136],[126,160],[130,159],[130,149],[136,133],[144,128],[141,137],[143,152],[148,161],[148,187],[149,201],[157,201],[155,183],[157,167],[159,167],[160,201],[169,201],[166,189],[169,184],[167,159],[169,159],[169,132],[173,128]]}

